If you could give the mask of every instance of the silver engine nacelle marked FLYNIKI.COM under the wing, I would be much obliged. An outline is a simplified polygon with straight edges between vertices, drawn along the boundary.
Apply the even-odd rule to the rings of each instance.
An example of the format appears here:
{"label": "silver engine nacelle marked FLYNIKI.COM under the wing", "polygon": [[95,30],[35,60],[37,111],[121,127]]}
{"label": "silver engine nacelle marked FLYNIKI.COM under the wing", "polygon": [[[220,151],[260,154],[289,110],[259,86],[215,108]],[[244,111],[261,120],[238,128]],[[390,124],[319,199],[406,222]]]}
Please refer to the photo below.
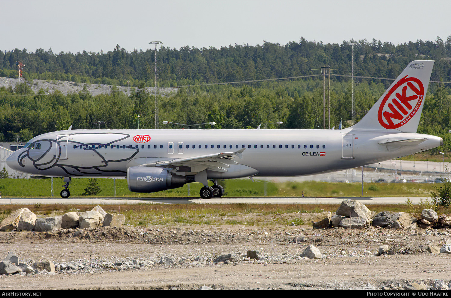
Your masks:
{"label": "silver engine nacelle marked FLYNIKI.COM under the wing", "polygon": [[127,183],[134,193],[155,193],[182,187],[186,178],[163,168],[135,166],[127,169]]}

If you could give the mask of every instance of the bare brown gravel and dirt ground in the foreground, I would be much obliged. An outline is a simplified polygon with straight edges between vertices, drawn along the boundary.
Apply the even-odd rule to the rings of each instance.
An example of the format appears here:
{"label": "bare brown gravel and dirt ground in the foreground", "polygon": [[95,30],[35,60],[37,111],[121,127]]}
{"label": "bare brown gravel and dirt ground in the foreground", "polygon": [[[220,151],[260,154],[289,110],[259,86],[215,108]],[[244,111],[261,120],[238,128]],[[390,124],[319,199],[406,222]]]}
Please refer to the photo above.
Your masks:
{"label": "bare brown gravel and dirt ground in the foreground", "polygon": [[[436,280],[450,282],[451,256],[424,245],[441,247],[448,233],[179,224],[4,232],[0,259],[12,251],[29,265],[53,261],[55,273],[0,275],[0,289],[431,289]],[[322,259],[300,256],[309,244]],[[378,256],[382,245],[389,251]]]}

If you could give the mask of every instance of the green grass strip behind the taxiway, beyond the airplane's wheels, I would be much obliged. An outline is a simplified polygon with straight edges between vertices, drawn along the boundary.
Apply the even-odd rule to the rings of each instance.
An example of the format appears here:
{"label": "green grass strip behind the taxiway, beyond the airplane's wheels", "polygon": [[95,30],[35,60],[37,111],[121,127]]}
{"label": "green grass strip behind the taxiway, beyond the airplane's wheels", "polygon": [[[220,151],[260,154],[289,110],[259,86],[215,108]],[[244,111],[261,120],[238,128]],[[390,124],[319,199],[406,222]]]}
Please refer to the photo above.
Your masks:
{"label": "green grass strip behind the taxiway, beyond the airplane's wheels", "polygon": [[[101,192],[91,197],[114,197],[114,180],[98,178]],[[272,183],[250,179],[230,179],[221,181],[225,188],[224,197],[264,197],[265,188],[268,197],[360,197],[361,183],[327,183],[318,181]],[[60,197],[64,183],[53,179],[53,197]],[[72,197],[81,197],[87,187],[88,179],[72,179],[70,193]],[[266,184],[266,186],[265,186]],[[433,190],[430,183],[364,183],[364,196],[429,196]],[[157,193],[132,193],[126,179],[116,179],[117,197],[198,197],[201,183],[189,183],[181,188],[169,189]],[[51,179],[0,179],[2,197],[51,197]],[[88,196],[89,197],[89,196]]]}

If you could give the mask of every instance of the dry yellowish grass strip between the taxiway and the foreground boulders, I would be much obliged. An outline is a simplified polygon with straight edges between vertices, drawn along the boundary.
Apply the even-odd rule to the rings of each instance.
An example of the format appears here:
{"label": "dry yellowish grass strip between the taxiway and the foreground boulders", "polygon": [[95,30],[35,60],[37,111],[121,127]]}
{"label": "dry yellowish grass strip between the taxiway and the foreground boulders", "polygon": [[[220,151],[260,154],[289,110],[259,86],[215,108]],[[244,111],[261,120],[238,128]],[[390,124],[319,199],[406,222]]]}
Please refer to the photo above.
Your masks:
{"label": "dry yellowish grass strip between the taxiway and the foreground boulders", "polygon": [[[368,209],[379,213],[381,211],[410,212],[413,215],[423,208],[431,207],[430,202],[421,205],[386,204],[366,205]],[[0,222],[11,211],[27,207],[38,217],[63,215],[66,212],[90,211],[94,205],[0,205]],[[243,226],[296,226],[304,225],[301,213],[335,212],[337,204],[137,204],[137,205],[104,205],[108,213],[124,214],[125,223],[132,226],[149,225],[243,225]],[[446,211],[440,209],[438,214]]]}

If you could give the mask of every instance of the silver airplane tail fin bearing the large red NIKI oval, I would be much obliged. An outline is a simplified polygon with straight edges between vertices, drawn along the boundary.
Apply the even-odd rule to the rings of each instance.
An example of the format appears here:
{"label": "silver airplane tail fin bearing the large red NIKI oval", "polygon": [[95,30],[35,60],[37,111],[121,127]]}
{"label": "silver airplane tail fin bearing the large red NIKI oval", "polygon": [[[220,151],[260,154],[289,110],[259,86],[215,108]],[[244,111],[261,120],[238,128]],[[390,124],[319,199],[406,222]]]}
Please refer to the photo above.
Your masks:
{"label": "silver airplane tail fin bearing the large red NIKI oval", "polygon": [[355,129],[416,133],[433,60],[410,62]]}

